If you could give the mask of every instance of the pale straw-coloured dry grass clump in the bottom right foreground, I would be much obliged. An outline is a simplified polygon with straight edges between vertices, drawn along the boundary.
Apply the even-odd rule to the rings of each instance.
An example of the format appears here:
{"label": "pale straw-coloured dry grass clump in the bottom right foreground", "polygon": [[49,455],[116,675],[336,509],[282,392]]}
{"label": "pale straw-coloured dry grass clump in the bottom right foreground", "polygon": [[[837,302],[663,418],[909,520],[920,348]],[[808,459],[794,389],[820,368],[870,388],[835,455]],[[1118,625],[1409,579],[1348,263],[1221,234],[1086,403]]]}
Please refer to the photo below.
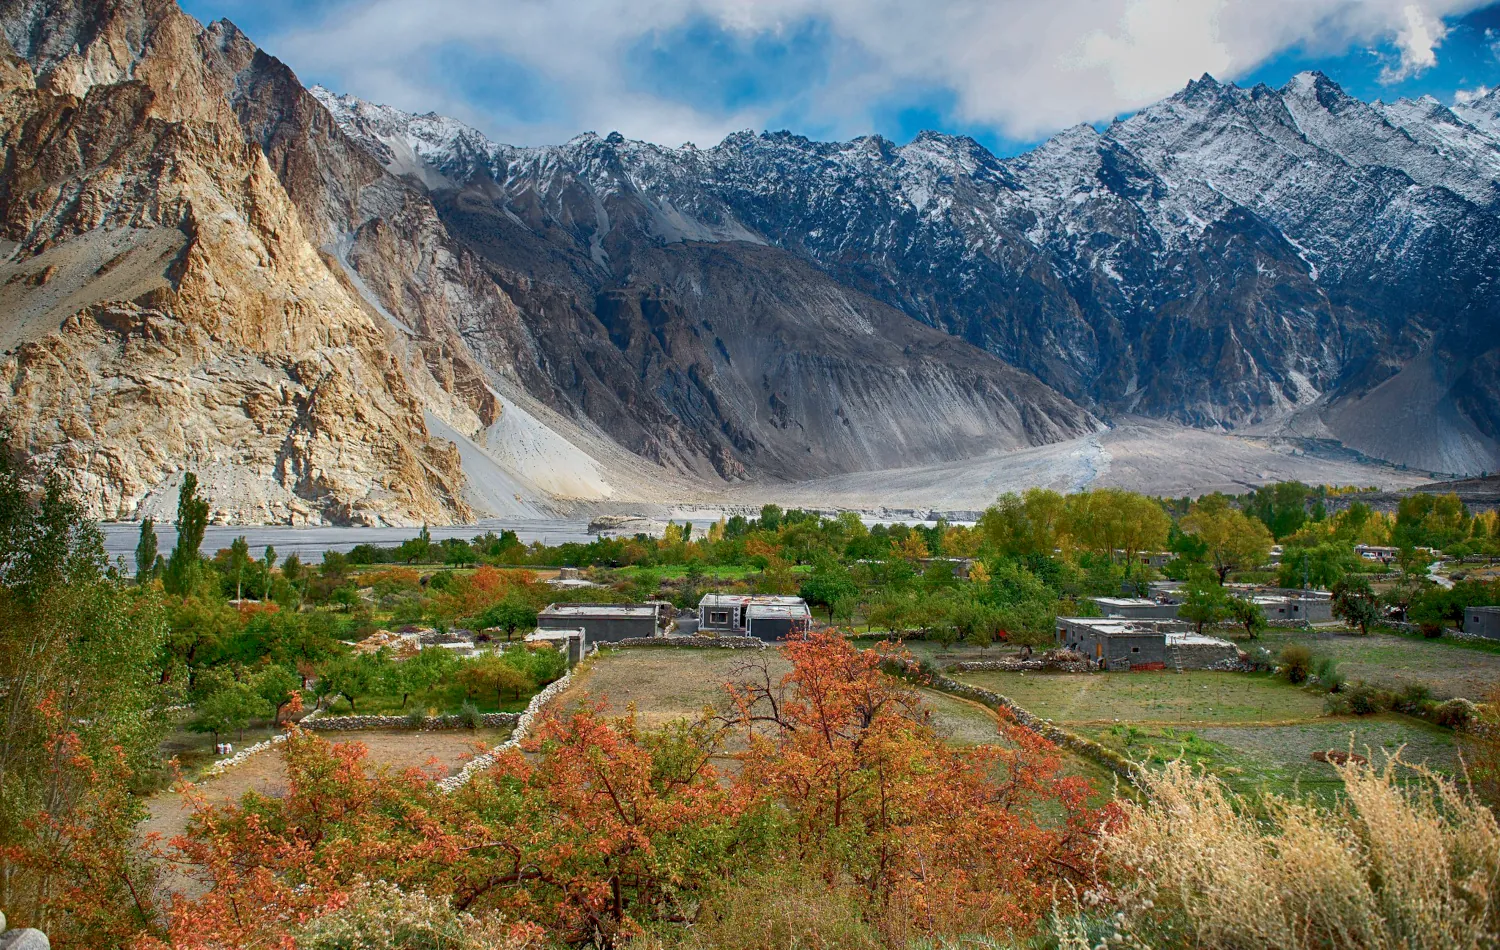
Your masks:
{"label": "pale straw-coloured dry grass clump in the bottom right foreground", "polygon": [[[1438,950],[1500,941],[1500,827],[1450,780],[1340,767],[1324,810],[1272,795],[1252,810],[1216,777],[1172,764],[1104,849],[1150,945]],[[1406,773],[1406,774],[1402,774]]]}

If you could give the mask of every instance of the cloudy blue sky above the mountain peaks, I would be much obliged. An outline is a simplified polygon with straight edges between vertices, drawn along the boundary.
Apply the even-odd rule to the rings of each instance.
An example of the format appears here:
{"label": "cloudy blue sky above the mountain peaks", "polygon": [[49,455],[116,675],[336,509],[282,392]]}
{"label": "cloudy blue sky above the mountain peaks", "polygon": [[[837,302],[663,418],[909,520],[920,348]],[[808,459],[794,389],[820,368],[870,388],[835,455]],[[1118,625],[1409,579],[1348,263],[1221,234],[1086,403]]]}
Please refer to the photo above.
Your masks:
{"label": "cloudy blue sky above the mountain peaks", "polygon": [[1362,99],[1500,86],[1484,0],[183,0],[308,84],[456,116],[498,141],[675,146],[922,129],[1014,153],[1210,72],[1322,69]]}

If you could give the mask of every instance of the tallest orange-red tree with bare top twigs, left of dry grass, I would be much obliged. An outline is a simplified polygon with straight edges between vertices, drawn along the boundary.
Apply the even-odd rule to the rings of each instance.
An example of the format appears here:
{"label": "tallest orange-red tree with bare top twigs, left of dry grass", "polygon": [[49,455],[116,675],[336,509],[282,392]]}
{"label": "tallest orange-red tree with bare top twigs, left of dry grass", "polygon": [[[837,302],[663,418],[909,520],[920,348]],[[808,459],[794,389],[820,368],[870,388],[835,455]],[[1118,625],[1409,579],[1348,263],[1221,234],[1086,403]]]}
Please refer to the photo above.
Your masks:
{"label": "tallest orange-red tree with bare top twigs, left of dry grass", "polygon": [[[740,786],[772,795],[796,860],[866,894],[872,923],[920,935],[1026,933],[1070,887],[1095,884],[1090,810],[1056,749],[1000,722],[1004,747],[948,747],[920,693],[832,633],[786,645],[792,671],[732,687],[748,755]],[[748,794],[748,792],[747,792]],[[1046,807],[1060,819],[1042,824]]]}

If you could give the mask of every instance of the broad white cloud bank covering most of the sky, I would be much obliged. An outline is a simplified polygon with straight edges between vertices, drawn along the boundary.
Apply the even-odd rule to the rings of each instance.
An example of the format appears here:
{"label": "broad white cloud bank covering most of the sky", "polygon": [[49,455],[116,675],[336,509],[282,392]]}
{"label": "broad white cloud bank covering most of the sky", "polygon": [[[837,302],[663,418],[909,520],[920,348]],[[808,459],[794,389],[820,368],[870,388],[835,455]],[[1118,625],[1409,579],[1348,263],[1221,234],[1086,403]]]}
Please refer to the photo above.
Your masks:
{"label": "broad white cloud bank covering most of the sky", "polygon": [[[714,143],[795,114],[855,135],[892,99],[946,90],[954,117],[1012,138],[1108,119],[1210,72],[1228,80],[1290,48],[1311,56],[1394,44],[1390,75],[1436,62],[1444,17],[1490,0],[345,0],[268,38],[294,68],[368,99],[435,110],[501,141],[618,129]],[[830,62],[786,101],[693,108],[632,81],[642,38],[706,18],[746,35],[818,21]],[[532,71],[561,104],[544,119],[465,99],[426,63],[454,44]]]}

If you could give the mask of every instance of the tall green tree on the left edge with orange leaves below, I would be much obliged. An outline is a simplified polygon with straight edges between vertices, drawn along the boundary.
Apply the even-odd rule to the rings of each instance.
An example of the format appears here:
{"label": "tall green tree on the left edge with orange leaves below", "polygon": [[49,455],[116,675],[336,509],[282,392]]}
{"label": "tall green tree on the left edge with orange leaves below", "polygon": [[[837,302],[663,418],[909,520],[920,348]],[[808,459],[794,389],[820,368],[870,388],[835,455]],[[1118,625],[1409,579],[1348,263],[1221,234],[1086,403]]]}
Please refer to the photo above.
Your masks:
{"label": "tall green tree on the left edge with orange leaves below", "polygon": [[[134,849],[87,866],[72,857],[76,831],[104,821],[118,840],[144,816],[128,791],[166,729],[162,602],[108,570],[96,521],[56,476],[33,495],[12,458],[0,444],[0,906],[16,923],[42,920],[54,897],[82,890],[94,918],[148,926],[152,908],[129,893],[152,888]],[[56,945],[106,945],[69,914],[52,924]]]}

